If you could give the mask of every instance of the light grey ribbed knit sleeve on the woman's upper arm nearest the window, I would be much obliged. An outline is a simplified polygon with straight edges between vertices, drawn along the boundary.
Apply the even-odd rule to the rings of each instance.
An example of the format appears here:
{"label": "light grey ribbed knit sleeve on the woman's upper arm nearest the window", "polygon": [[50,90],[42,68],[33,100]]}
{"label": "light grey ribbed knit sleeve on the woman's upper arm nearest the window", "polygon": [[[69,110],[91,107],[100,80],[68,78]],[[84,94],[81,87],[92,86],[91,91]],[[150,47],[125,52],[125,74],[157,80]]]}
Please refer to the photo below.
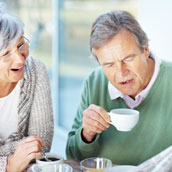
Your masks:
{"label": "light grey ribbed knit sleeve on the woman's upper arm nearest the window", "polygon": [[28,135],[37,135],[49,152],[53,138],[53,110],[48,72],[43,63],[35,60],[36,87],[29,118]]}

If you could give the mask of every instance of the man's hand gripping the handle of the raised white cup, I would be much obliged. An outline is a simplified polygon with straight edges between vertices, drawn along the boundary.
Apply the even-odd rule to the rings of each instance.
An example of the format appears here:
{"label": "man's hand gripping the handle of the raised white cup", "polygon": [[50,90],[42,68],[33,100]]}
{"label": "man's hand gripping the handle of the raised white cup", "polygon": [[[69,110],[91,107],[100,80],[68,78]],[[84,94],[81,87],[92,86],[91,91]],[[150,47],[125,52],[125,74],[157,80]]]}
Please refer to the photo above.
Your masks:
{"label": "man's hand gripping the handle of the raised white cup", "polygon": [[83,112],[82,137],[87,142],[91,142],[97,133],[102,133],[109,128],[110,117],[100,106],[90,105]]}

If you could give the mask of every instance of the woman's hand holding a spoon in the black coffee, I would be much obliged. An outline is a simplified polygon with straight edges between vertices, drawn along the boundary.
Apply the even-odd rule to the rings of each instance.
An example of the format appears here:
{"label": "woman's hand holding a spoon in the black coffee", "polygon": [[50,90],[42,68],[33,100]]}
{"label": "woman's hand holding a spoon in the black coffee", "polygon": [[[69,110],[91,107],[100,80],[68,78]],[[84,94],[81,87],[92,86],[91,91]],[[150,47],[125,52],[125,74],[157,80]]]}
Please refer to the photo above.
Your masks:
{"label": "woman's hand holding a spoon in the black coffee", "polygon": [[14,154],[8,157],[6,172],[21,172],[31,160],[42,156],[41,148],[44,143],[38,136],[29,136],[22,140]]}

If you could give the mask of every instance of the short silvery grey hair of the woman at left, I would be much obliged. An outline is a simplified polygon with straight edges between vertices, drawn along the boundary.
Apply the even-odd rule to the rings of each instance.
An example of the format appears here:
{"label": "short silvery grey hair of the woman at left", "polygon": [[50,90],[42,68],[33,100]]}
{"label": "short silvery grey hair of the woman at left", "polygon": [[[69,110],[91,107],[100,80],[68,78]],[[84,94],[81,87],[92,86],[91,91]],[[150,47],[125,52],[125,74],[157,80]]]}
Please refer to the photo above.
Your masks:
{"label": "short silvery grey hair of the woman at left", "polygon": [[11,48],[24,34],[24,24],[15,15],[6,10],[5,4],[0,3],[0,51]]}

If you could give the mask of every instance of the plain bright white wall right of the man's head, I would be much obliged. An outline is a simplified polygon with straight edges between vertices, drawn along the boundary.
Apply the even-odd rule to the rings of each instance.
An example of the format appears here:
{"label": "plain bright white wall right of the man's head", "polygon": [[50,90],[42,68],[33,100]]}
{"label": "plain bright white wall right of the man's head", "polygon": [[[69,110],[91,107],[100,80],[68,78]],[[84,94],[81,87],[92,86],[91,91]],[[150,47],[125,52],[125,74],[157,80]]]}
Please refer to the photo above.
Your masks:
{"label": "plain bright white wall right of the man's head", "polygon": [[172,1],[139,0],[138,11],[152,52],[158,58],[172,61]]}

